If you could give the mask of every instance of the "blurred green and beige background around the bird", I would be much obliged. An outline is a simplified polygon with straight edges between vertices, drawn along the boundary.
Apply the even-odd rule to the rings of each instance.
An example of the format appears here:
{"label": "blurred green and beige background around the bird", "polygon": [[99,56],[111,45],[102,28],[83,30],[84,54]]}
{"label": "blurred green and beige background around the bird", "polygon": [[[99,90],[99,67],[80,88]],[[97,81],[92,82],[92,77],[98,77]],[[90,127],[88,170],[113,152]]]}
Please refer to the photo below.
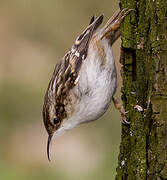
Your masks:
{"label": "blurred green and beige background around the bird", "polygon": [[[0,1],[0,180],[113,180],[121,134],[113,108],[52,143],[42,123],[45,90],[56,62],[68,51],[92,15],[105,19],[115,0]],[[120,40],[114,47],[120,71]],[[120,78],[117,95],[120,91]]]}

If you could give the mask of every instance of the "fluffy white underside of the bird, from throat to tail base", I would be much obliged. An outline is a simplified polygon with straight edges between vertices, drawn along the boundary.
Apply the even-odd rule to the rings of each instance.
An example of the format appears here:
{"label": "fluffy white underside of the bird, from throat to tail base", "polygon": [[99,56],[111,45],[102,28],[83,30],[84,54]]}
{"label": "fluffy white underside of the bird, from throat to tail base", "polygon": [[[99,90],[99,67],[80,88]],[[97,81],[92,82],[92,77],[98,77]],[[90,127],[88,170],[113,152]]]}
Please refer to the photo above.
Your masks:
{"label": "fluffy white underside of the bird, from throat to tail base", "polygon": [[63,122],[57,134],[98,119],[110,105],[117,83],[115,63],[109,42],[104,39],[100,46],[104,49],[105,56],[99,56],[93,43],[89,47],[79,73],[78,84],[72,90],[81,96],[80,100],[75,105],[72,116]]}

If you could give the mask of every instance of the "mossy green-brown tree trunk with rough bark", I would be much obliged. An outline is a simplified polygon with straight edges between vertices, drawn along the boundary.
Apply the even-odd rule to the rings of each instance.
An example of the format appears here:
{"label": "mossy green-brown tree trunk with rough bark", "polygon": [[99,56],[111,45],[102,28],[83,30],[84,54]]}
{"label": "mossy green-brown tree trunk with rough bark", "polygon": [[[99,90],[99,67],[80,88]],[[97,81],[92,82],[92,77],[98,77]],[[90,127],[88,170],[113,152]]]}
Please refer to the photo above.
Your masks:
{"label": "mossy green-brown tree trunk with rough bark", "polygon": [[127,121],[116,180],[167,179],[167,0],[121,0],[122,100]]}

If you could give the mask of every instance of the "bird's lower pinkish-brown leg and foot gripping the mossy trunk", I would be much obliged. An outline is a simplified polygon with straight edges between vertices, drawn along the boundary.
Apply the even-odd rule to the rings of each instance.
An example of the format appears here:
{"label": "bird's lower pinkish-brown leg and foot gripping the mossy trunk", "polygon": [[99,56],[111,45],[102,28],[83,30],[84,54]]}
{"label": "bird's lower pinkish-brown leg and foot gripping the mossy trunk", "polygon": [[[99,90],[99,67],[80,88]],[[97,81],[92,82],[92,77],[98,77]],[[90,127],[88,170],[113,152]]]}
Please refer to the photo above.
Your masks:
{"label": "bird's lower pinkish-brown leg and foot gripping the mossy trunk", "polygon": [[123,124],[130,124],[130,122],[128,122],[128,121],[126,120],[125,115],[126,115],[126,113],[128,113],[128,112],[125,112],[125,109],[124,109],[123,105],[122,105],[122,104],[119,102],[119,100],[118,100],[117,98],[115,98],[115,97],[113,97],[112,100],[113,100],[113,102],[114,102],[115,108],[118,109],[119,112],[121,113],[121,122],[122,122]]}

